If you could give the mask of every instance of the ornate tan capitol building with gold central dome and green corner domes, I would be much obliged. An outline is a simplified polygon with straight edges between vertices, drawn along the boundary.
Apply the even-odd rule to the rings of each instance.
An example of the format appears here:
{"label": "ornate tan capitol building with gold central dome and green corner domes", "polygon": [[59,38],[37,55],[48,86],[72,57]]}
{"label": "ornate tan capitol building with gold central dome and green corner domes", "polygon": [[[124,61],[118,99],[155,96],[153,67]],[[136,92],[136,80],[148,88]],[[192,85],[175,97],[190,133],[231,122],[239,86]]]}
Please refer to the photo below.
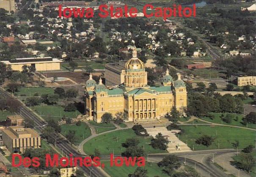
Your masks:
{"label": "ornate tan capitol building with gold central dome and green corner domes", "polygon": [[[105,73],[106,78],[113,76]],[[124,82],[113,89],[107,89],[99,80],[92,79],[85,83],[85,113],[89,120],[102,121],[104,113],[125,113],[128,121],[137,122],[145,119],[159,119],[173,107],[183,111],[187,107],[187,90],[181,75],[173,80],[168,70],[162,78],[162,86],[147,85],[147,72],[144,64],[133,50],[132,59],[125,63]]]}

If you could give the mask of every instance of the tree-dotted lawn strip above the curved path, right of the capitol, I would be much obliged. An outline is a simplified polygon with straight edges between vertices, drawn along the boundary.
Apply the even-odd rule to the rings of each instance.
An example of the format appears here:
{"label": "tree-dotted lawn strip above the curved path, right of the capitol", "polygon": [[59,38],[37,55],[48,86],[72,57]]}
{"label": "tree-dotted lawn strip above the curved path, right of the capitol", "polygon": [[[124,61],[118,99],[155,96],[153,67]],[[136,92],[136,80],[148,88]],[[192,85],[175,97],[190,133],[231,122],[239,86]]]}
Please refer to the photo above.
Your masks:
{"label": "tree-dotted lawn strip above the curved path, right of the capitol", "polygon": [[[220,116],[223,114],[225,116],[225,113],[209,113],[211,115],[214,116],[213,119],[209,118],[209,117],[204,117],[203,119],[205,121],[209,121],[209,122],[213,122],[213,123],[222,123],[224,125],[234,125],[234,126],[243,126],[243,127],[246,127],[246,125],[243,125],[242,124],[242,118],[243,118],[243,115],[242,114],[231,114],[233,115],[233,120],[231,121],[231,123],[226,123],[224,121],[221,121],[221,118]],[[227,113],[228,114],[228,113]],[[235,121],[235,118],[238,117],[238,121]],[[248,123],[248,128],[252,128],[252,129],[256,129],[256,124],[252,124],[252,123]]]}

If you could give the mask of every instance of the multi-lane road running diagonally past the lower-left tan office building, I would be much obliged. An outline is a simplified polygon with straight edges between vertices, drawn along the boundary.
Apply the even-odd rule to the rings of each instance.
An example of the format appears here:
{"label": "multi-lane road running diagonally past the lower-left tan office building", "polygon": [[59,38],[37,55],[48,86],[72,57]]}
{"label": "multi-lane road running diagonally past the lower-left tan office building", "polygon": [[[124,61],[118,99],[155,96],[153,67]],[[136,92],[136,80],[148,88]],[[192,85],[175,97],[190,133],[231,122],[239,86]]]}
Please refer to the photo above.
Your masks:
{"label": "multi-lane road running diagonally past the lower-left tan office building", "polygon": [[[13,97],[11,97],[10,94],[6,93],[6,91],[4,91],[2,88],[0,88],[0,97],[4,97],[4,98],[8,98],[8,99],[15,99]],[[17,102],[19,102],[17,100]],[[17,113],[20,114],[25,117],[25,118],[29,118],[31,120],[33,120],[35,122],[35,129],[39,132],[42,132],[43,130],[43,125],[46,124],[46,122],[44,122],[38,115],[36,115],[35,113],[33,113],[32,111],[30,111],[28,109],[28,107],[25,107],[25,105],[23,105],[22,103],[19,102],[19,106],[17,107]],[[53,136],[57,137],[56,134],[53,134]],[[57,143],[57,147],[60,148],[61,150],[63,150],[64,154],[73,154],[73,156],[78,156],[80,157],[81,155],[79,153],[77,153],[77,151],[75,150],[75,148],[72,147],[72,145],[70,145],[67,141],[62,141],[62,142],[58,142]],[[88,176],[90,175],[91,172],[91,176],[92,177],[103,177],[103,176],[107,176],[105,174],[105,172],[102,172],[101,169],[96,168],[94,166],[91,167],[81,167],[81,169],[83,170],[83,172],[85,172],[85,174],[87,174]]]}

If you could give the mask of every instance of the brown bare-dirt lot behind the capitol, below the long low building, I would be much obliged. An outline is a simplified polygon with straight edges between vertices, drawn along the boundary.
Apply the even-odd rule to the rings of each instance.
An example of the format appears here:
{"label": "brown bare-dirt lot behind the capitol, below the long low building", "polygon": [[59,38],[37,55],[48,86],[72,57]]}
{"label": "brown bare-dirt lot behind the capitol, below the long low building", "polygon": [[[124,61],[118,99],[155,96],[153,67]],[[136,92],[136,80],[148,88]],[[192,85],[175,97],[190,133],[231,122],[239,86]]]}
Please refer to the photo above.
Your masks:
{"label": "brown bare-dirt lot behind the capitol, below the long low building", "polygon": [[[61,77],[69,78],[76,83],[85,83],[89,79],[89,75],[86,72],[43,72],[42,73],[47,78]],[[93,73],[93,75],[101,75],[101,73]]]}

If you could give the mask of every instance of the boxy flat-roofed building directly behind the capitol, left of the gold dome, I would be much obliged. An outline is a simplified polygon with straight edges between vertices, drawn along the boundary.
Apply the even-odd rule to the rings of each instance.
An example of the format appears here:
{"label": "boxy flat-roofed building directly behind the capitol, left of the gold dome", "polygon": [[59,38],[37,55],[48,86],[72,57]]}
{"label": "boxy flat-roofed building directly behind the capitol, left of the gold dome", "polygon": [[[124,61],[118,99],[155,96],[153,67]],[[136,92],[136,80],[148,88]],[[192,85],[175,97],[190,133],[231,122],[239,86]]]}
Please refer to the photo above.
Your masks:
{"label": "boxy flat-roofed building directly behind the capitol, left of the gold dome", "polygon": [[119,63],[108,63],[105,66],[106,86],[118,86],[124,83],[125,61]]}

